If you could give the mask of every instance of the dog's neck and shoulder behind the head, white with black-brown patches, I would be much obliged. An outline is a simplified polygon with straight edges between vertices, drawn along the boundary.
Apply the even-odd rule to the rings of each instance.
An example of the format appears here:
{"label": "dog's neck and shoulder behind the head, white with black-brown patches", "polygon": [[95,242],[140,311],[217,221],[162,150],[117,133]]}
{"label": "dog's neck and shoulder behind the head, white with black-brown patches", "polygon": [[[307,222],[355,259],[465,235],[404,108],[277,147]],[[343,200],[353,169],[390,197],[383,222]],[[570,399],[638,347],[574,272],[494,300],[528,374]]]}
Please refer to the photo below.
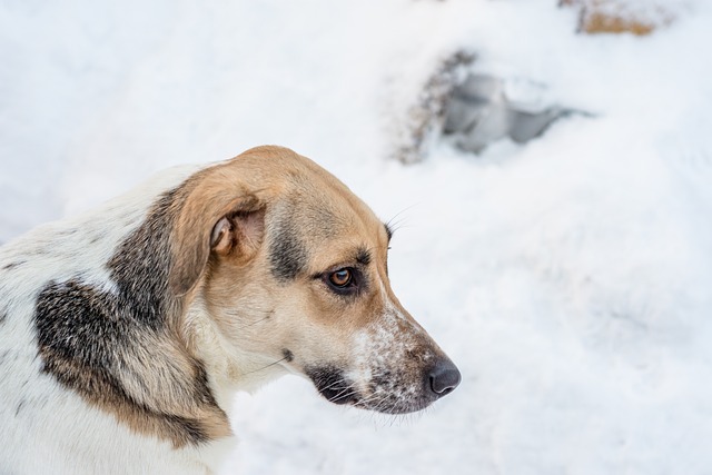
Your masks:
{"label": "dog's neck and shoulder behind the head, white with black-brown patches", "polygon": [[[20,442],[47,433],[48,464],[61,466],[61,447],[81,445],[81,438],[113,445],[113,453],[139,442],[155,445],[160,458],[161,451],[206,436],[209,428],[190,414],[222,423],[205,372],[164,337],[170,331],[161,319],[169,305],[174,200],[202,168],[165,170],[96,209],[0,247],[0,432]],[[175,387],[144,387],[151,370],[172,374]],[[176,402],[161,397],[170,399],[176,387],[175,397],[199,395],[205,406],[171,414]],[[141,399],[146,393],[156,398]],[[7,444],[0,469],[29,469],[33,465],[22,464],[32,457],[26,444]]]}

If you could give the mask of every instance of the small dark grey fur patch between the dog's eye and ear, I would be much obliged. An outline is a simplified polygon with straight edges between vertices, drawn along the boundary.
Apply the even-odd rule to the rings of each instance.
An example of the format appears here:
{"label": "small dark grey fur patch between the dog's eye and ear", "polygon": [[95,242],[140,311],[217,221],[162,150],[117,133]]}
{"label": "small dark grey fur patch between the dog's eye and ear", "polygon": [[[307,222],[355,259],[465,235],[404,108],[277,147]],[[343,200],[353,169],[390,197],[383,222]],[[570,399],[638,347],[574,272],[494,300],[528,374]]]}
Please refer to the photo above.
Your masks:
{"label": "small dark grey fur patch between the dog's eye and ear", "polygon": [[271,234],[269,264],[273,275],[281,281],[294,280],[306,270],[308,255],[294,224],[283,218]]}

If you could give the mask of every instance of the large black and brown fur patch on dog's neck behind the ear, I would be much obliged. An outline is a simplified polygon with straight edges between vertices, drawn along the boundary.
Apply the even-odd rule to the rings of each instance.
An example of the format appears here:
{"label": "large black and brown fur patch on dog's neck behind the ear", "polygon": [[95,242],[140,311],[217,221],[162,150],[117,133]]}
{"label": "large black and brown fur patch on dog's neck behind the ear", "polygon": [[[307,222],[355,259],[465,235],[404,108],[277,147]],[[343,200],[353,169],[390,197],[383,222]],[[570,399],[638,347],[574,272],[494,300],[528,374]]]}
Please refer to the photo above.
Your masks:
{"label": "large black and brown fur patch on dog's neck behind the ear", "polygon": [[[108,261],[116,294],[97,289],[79,278],[50,283],[40,293],[34,326],[44,373],[90,403],[119,407],[139,420],[160,426],[178,445],[207,442],[200,420],[160,413],[136,402],[121,383],[131,348],[140,348],[141,335],[162,335],[167,316],[176,310],[168,289],[170,231],[185,194],[180,188],[161,197],[144,224]],[[181,204],[179,204],[181,205]],[[141,348],[148,354],[152,348]],[[208,386],[200,362],[197,377],[180,390],[200,407],[222,413]]]}

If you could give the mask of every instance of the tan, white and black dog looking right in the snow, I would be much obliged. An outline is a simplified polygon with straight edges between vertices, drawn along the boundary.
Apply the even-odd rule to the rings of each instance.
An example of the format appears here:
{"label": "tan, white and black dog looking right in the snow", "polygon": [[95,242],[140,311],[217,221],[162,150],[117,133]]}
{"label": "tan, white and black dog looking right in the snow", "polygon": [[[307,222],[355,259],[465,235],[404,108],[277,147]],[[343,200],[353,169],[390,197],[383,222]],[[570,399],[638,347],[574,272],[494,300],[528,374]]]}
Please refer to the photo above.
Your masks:
{"label": "tan, white and black dog looking right in the snow", "polygon": [[288,373],[332,403],[425,408],[461,374],[393,294],[390,236],[265,146],[0,247],[0,473],[212,473],[235,393]]}

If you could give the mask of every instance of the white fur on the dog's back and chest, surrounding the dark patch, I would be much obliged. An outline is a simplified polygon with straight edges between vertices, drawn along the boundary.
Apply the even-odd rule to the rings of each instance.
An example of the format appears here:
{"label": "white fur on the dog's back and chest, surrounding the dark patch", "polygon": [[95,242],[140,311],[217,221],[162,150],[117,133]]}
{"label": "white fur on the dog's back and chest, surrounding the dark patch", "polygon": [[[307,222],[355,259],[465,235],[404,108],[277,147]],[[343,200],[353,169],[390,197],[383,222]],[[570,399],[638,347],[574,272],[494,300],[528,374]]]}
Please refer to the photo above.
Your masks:
{"label": "white fur on the dog's back and chest, surrounding the dark patch", "polygon": [[[41,373],[32,323],[38,294],[50,280],[81,275],[111,291],[106,263],[117,245],[140,225],[160,192],[195,171],[167,170],[100,209],[41,226],[0,247],[0,317],[6,316],[0,323],[0,473],[206,474],[234,445],[228,437],[175,449],[89,406]],[[2,270],[20,260],[31,265]]]}

